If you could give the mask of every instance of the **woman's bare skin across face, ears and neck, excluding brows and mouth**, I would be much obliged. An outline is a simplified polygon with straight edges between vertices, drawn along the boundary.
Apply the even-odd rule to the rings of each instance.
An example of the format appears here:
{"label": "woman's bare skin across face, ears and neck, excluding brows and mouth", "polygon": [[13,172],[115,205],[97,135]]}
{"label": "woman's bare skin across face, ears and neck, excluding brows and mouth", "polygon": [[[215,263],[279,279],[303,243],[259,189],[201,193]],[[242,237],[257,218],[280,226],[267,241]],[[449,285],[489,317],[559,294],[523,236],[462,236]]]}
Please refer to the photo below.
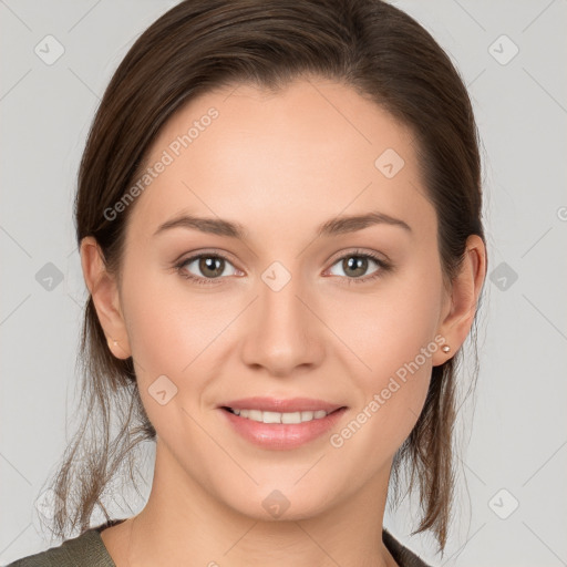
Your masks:
{"label": "woman's bare skin across face, ears and neck, excluding brows and mouth", "polygon": [[[277,94],[234,89],[190,101],[161,131],[148,164],[208,109],[219,112],[132,205],[121,277],[104,269],[91,237],[81,246],[101,324],[116,341],[110,348],[133,357],[157,431],[150,499],[105,529],[103,543],[117,567],[395,566],[381,540],[392,458],[423,408],[432,367],[468,334],[483,241],[468,238],[462,270],[444,287],[411,132],[349,86],[303,79]],[[386,148],[405,162],[392,178],[374,166]],[[315,236],[338,215],[371,210],[411,231],[381,224]],[[240,223],[248,239],[186,228],[153,236],[179,212]],[[349,270],[341,260],[357,249],[394,269],[369,259],[365,271]],[[229,257],[210,286],[173,267],[202,251]],[[291,276],[279,291],[261,278],[274,261]],[[184,271],[213,279],[198,261]],[[329,434],[259,449],[217,409],[249,395],[323,399],[348,406],[339,432],[437,334],[451,352],[426,358],[340,449]],[[165,405],[148,392],[163,374],[177,386]],[[278,519],[262,507],[274,489],[290,503]]]}

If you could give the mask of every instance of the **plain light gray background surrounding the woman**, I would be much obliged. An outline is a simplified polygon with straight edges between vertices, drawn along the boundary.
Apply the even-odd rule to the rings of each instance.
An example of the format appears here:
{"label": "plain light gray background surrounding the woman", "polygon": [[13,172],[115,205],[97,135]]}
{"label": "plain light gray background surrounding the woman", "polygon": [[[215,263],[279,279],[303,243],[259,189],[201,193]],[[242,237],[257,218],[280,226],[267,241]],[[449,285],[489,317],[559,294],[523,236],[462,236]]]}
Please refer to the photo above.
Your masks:
{"label": "plain light gray background surrounding the woman", "polygon": [[[113,70],[174,3],[0,0],[1,565],[48,547],[34,503],[72,433],[86,297],[72,196],[84,138]],[[384,524],[433,565],[567,565],[567,1],[395,4],[432,32],[468,85],[489,270],[444,558],[431,536],[410,537],[415,503]]]}

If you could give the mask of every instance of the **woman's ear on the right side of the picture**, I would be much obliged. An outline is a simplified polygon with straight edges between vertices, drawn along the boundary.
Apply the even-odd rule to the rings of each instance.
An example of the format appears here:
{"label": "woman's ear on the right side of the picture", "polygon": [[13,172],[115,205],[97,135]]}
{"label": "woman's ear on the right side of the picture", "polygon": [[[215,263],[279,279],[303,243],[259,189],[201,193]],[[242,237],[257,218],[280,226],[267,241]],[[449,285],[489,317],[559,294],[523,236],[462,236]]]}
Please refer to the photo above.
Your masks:
{"label": "woman's ear on the right side of the picture", "polygon": [[433,365],[440,365],[452,358],[462,347],[476,313],[478,297],[486,275],[486,247],[478,235],[466,239],[466,250],[461,269],[453,280],[451,293],[442,315],[437,333],[451,347],[449,352],[441,348],[433,355]]}

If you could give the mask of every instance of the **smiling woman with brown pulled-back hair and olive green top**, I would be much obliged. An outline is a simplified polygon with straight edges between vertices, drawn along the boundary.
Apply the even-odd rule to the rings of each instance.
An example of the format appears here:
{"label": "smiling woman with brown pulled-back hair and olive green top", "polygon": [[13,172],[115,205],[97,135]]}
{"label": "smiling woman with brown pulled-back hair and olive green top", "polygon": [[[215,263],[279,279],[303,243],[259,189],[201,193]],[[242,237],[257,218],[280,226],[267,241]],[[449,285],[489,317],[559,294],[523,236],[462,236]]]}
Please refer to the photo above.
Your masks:
{"label": "smiling woman with brown pulled-back hair and olive green top", "polygon": [[[13,565],[423,566],[382,526],[403,471],[442,551],[480,169],[458,73],[392,6],[159,18],[79,175],[89,411],[53,493],[54,532],[81,535]],[[150,498],[112,519],[99,498],[144,440]]]}

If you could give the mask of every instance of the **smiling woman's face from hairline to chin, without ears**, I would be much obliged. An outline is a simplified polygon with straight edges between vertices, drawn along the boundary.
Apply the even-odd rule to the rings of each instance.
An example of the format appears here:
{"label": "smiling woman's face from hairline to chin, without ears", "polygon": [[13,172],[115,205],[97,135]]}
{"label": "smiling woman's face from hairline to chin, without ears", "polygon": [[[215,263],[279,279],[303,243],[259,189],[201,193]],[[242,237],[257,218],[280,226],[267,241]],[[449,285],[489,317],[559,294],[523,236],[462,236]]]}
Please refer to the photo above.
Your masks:
{"label": "smiling woman's face from hairline to chin, without ears", "polygon": [[[258,518],[383,488],[449,358],[436,215],[411,133],[337,83],[240,85],[185,106],[146,165],[120,346],[157,431],[156,477],[181,501],[199,487]],[[322,406],[342,410],[292,423]],[[292,415],[260,424],[281,419],[262,408]]]}

